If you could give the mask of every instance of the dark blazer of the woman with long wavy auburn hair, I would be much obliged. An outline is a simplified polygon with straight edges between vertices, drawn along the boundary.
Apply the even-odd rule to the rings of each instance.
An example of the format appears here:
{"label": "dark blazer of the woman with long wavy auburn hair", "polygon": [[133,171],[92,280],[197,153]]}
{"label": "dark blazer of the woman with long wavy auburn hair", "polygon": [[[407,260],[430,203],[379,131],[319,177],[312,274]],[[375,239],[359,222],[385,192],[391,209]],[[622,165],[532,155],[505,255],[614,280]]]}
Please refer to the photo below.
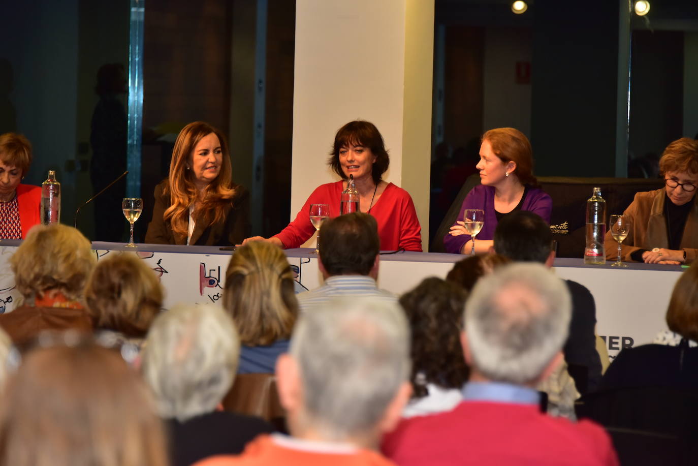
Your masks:
{"label": "dark blazer of the woman with long wavy auburn hair", "polygon": [[[155,207],[153,207],[153,219],[148,224],[145,233],[145,242],[156,245],[186,245],[186,235],[175,235],[170,221],[165,221],[165,210],[172,205],[170,195],[164,194],[165,187],[169,184],[164,180],[155,187]],[[197,221],[194,231],[191,233],[190,245],[196,246],[230,246],[239,245],[242,240],[250,236],[249,192],[242,186],[238,186],[238,194],[230,202],[228,211],[223,221],[213,224],[204,224]]]}

